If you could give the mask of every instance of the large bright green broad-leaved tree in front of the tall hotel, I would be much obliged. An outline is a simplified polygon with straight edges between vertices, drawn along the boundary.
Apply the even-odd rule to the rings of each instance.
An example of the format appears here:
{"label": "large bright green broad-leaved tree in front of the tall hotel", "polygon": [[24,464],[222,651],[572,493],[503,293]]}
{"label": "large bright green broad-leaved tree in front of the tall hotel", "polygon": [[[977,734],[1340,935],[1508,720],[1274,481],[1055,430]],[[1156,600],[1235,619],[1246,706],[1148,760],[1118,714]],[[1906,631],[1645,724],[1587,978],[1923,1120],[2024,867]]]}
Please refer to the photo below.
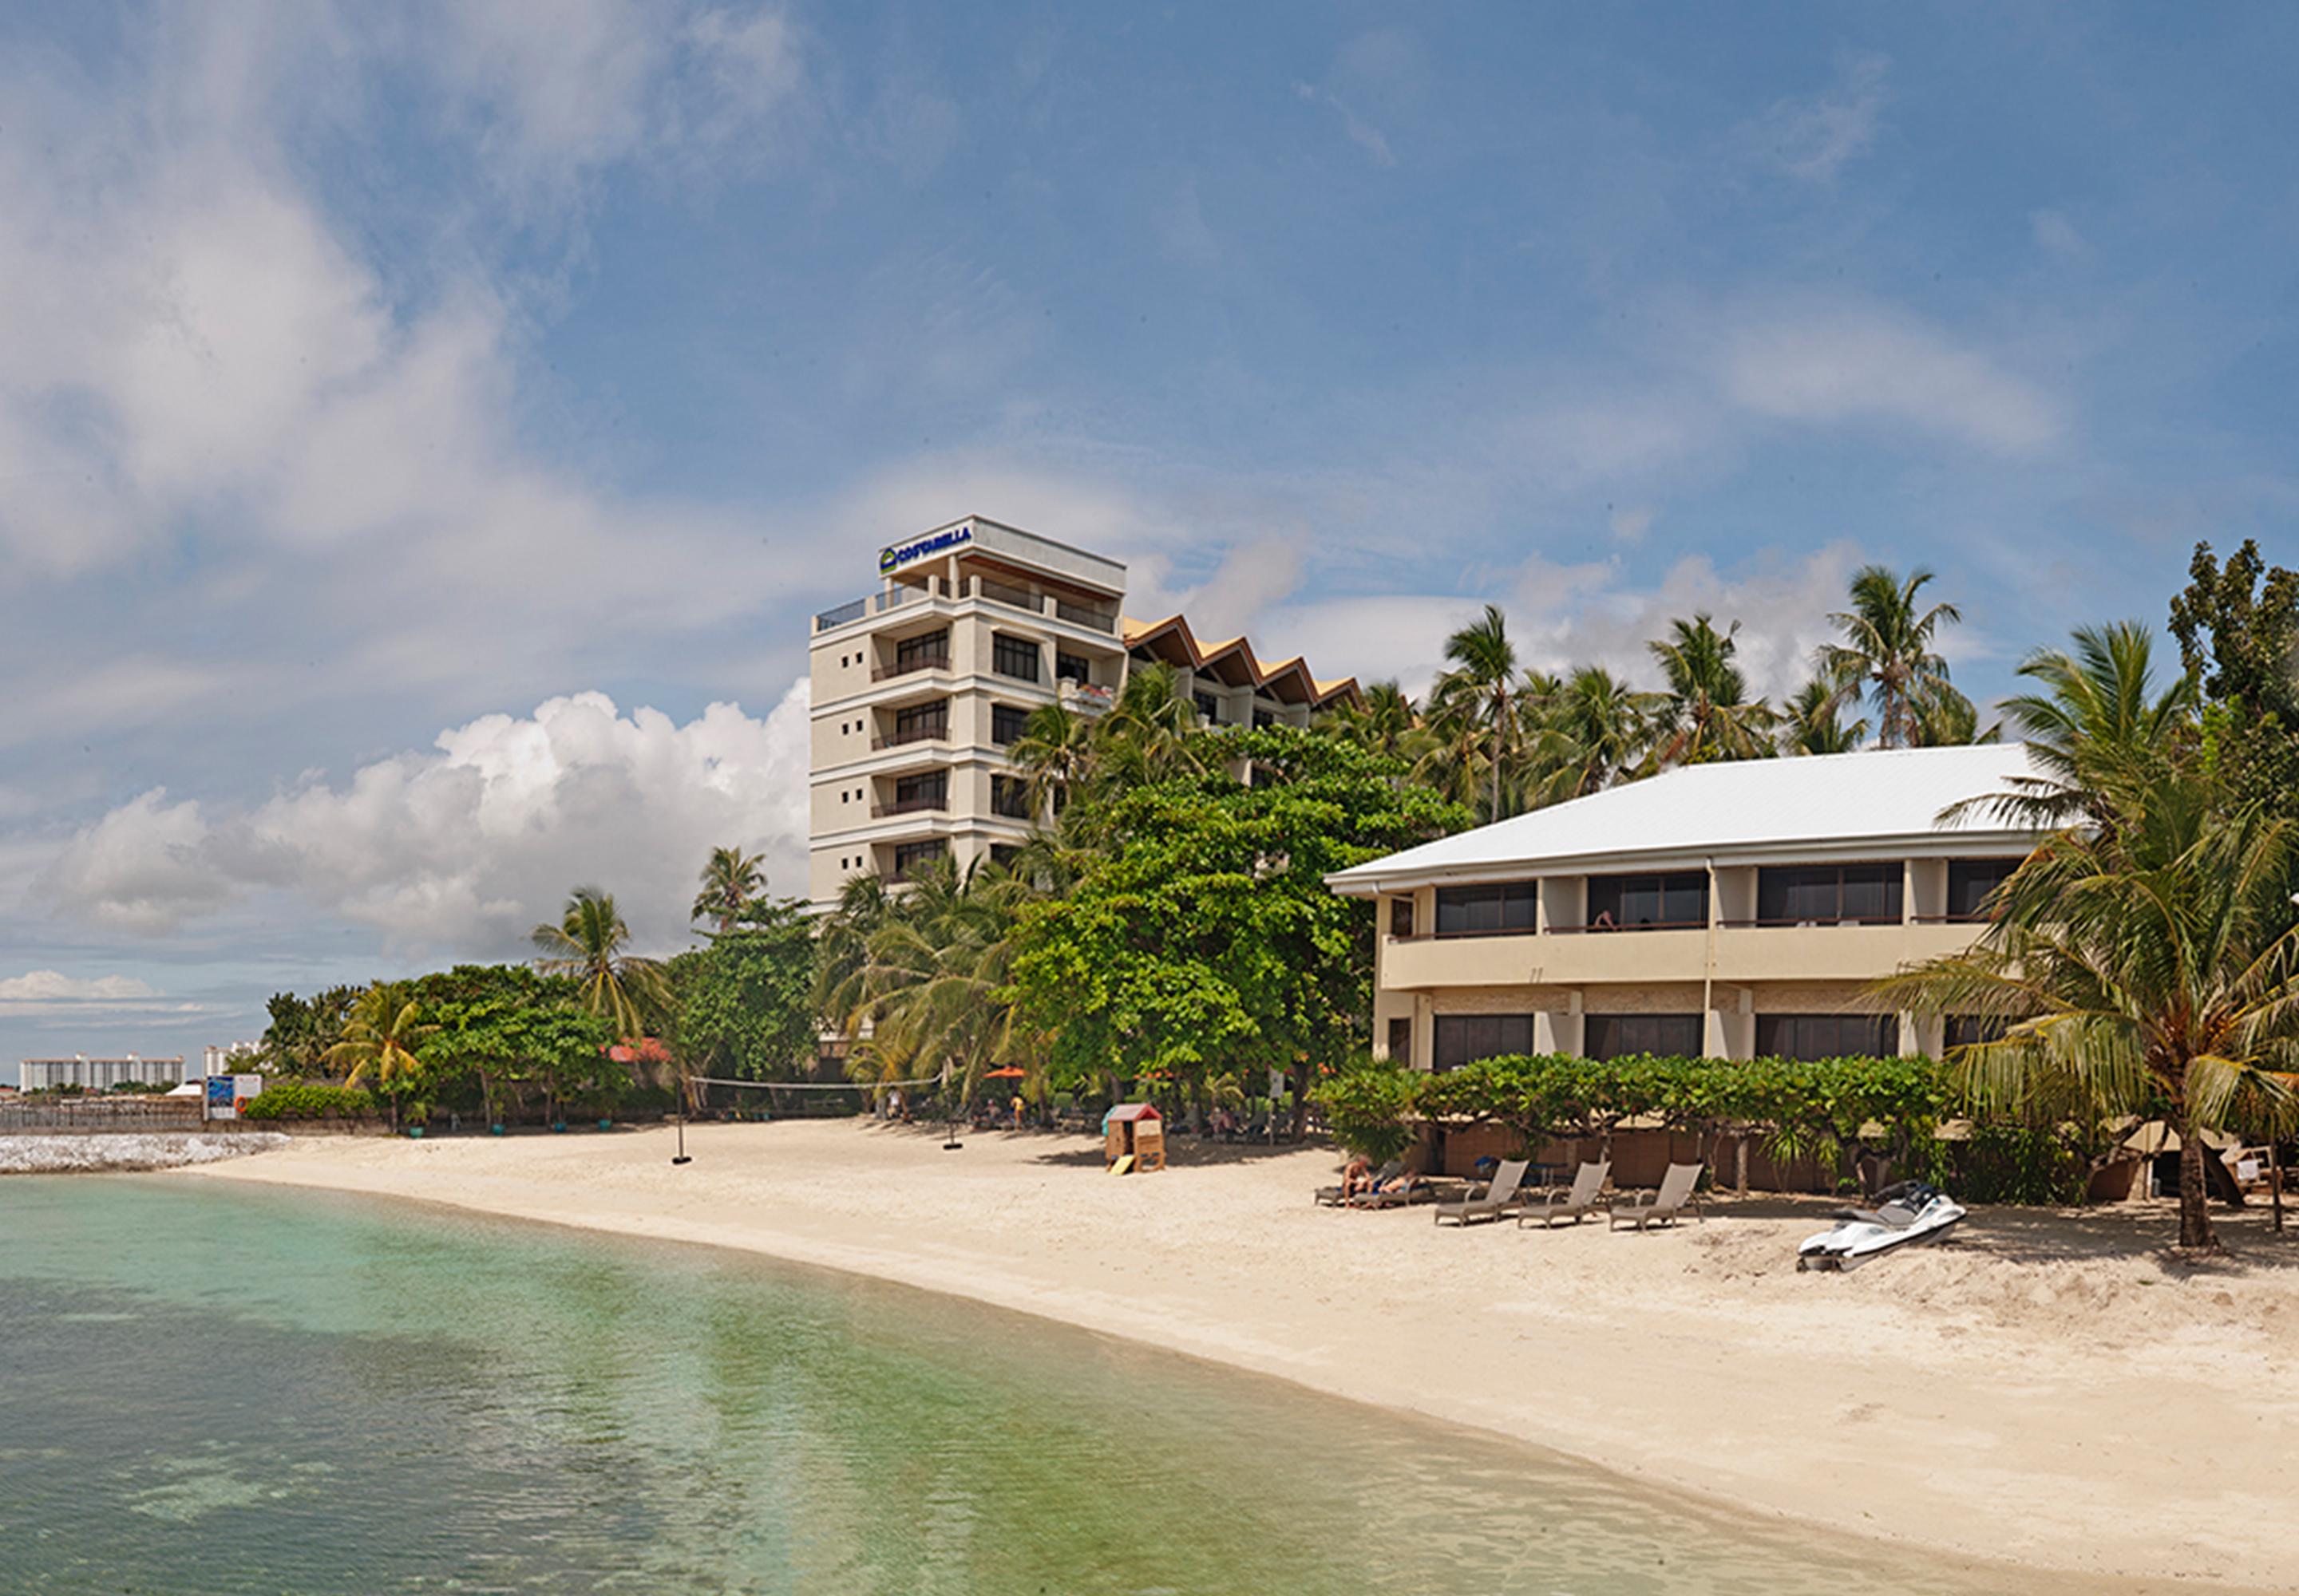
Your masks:
{"label": "large bright green broad-leaved tree in front of the tall hotel", "polygon": [[1324,878],[1458,830],[1467,814],[1329,736],[1232,731],[1251,787],[1214,770],[1101,798],[1108,849],[1021,908],[1016,1023],[1055,1083],[1292,1072],[1366,1044],[1373,911]]}

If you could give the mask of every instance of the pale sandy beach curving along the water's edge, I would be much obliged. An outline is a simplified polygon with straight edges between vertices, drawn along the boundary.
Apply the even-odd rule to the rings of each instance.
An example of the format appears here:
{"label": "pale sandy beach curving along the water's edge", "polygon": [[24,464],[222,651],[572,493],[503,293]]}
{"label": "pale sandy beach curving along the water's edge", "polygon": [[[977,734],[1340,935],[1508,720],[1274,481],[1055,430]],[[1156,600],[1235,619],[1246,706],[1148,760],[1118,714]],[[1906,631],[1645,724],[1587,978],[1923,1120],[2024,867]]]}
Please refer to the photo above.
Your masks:
{"label": "pale sandy beach curving along the water's edge", "polygon": [[[862,1122],[294,1138],[193,1177],[740,1246],[959,1292],[1623,1474],[1956,1552],[2299,1589],[2299,1226],[2170,1263],[2170,1212],[1982,1210],[1796,1274],[1816,1200],[1609,1235],[1310,1207],[1322,1150],[1108,1177],[1099,1143]],[[1184,1154],[1189,1157],[1189,1154]]]}

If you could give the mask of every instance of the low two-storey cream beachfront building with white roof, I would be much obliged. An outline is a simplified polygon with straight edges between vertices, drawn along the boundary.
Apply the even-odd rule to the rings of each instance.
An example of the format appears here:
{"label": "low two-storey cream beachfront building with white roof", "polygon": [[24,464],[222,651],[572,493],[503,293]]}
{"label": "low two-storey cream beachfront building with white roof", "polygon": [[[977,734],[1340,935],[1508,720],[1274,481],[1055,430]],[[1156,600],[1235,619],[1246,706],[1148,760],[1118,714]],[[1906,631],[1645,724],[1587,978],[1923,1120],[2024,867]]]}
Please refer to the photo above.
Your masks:
{"label": "low two-storey cream beachfront building with white roof", "polygon": [[2030,773],[2023,745],[1690,766],[1340,872],[1375,899],[1375,1051],[1938,1056],[1977,1021],[1867,987],[1970,947],[2035,835],[1943,812]]}

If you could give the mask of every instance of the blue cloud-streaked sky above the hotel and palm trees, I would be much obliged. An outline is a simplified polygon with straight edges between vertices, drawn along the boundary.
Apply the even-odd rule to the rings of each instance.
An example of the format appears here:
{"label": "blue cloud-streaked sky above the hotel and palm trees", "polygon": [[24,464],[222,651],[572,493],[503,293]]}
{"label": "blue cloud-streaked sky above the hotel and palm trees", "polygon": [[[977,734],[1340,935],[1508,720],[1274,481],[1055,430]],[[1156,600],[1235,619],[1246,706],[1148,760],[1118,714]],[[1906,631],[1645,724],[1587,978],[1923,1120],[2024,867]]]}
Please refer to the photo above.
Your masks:
{"label": "blue cloud-streaked sky above the hotel and palm trees", "polygon": [[[0,7],[0,1060],[802,890],[982,513],[1322,676],[2299,557],[2285,5]],[[9,1072],[0,1069],[0,1079]]]}

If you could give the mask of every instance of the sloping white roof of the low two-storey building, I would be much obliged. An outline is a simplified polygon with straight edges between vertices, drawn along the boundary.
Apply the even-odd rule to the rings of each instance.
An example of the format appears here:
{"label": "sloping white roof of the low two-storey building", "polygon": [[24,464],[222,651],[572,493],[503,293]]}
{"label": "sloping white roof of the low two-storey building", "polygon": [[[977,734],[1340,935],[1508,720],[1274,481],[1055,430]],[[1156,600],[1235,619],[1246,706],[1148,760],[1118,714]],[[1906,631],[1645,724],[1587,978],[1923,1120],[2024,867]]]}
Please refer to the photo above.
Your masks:
{"label": "sloping white roof of the low two-storey building", "polygon": [[1497,826],[1425,842],[1329,876],[1368,895],[1430,881],[1667,869],[1756,860],[2007,853],[2032,832],[1982,812],[1940,826],[1940,809],[2030,775],[2025,743],[1894,747],[1860,754],[1683,766]]}

